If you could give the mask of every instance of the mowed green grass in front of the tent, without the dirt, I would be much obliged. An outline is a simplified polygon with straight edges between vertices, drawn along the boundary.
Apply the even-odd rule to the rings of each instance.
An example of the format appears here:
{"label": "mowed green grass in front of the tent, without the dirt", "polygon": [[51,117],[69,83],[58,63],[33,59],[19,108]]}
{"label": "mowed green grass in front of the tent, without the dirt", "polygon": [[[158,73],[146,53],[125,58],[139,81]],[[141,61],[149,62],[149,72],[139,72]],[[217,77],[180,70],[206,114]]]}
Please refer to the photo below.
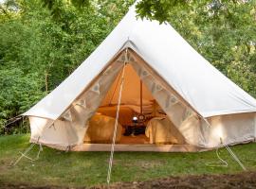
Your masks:
{"label": "mowed green grass in front of the tent, without the dirt", "polygon": [[[11,163],[29,146],[29,135],[0,137],[0,183],[92,186],[106,183],[109,152],[63,152],[44,146],[39,160],[22,159]],[[39,147],[28,153],[36,157]],[[231,149],[248,170],[256,171],[256,144],[232,146]],[[152,180],[168,176],[238,173],[242,168],[222,148],[221,157],[228,167],[211,167],[206,163],[218,161],[215,150],[196,153],[116,152],[112,182]],[[245,173],[246,174],[246,173]]]}

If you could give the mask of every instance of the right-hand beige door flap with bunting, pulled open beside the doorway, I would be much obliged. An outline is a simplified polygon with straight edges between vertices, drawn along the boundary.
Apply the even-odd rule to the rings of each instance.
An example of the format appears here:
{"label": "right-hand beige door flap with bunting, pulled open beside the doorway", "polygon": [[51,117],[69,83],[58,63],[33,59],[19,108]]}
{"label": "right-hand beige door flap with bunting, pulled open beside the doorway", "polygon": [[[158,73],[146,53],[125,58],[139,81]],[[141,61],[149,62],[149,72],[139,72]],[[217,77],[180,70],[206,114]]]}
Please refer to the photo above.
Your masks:
{"label": "right-hand beige door flap with bunting, pulled open beside the doorway", "polygon": [[[206,127],[202,124],[205,121],[198,118],[198,114],[192,110],[190,105],[176,94],[171,86],[158,76],[144,60],[139,58],[135,52],[132,52],[132,55],[131,64],[137,71],[137,75],[174,123],[174,128],[177,129],[175,133],[183,136],[186,143],[190,145],[206,146],[206,139],[201,132],[202,127]],[[192,123],[192,127],[188,123]]]}

